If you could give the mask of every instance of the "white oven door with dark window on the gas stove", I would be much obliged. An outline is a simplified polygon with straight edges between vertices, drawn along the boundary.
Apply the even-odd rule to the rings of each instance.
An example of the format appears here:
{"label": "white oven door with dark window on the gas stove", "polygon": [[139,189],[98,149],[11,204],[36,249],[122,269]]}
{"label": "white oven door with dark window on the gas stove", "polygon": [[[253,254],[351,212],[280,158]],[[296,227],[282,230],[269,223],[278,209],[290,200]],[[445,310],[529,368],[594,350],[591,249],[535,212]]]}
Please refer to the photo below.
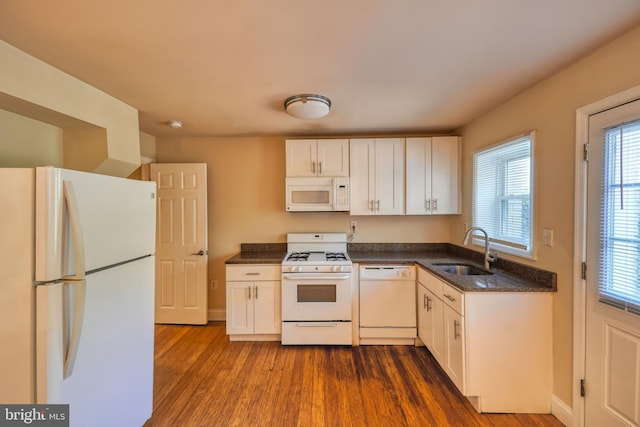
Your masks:
{"label": "white oven door with dark window on the gas stove", "polygon": [[283,273],[283,321],[350,321],[351,275]]}

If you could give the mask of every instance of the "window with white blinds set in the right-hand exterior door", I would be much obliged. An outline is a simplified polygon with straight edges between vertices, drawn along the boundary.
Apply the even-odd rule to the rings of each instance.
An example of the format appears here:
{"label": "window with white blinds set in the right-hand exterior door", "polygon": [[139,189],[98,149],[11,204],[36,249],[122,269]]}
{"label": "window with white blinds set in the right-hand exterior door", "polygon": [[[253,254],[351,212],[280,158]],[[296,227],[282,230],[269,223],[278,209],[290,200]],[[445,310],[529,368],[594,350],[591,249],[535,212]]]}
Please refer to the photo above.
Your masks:
{"label": "window with white blinds set in the right-hand exterior door", "polygon": [[640,121],[604,138],[600,299],[640,314]]}

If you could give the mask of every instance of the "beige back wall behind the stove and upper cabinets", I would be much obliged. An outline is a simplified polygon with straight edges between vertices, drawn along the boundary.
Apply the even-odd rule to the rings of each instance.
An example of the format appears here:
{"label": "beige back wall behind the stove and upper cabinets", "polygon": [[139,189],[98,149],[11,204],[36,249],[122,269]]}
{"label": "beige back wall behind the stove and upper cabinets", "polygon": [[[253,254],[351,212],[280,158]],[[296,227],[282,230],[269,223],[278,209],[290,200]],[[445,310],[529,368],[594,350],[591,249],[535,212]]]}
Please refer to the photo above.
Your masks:
{"label": "beige back wall behind the stove and upper cabinets", "polygon": [[355,242],[448,242],[448,217],[352,217],[346,213],[285,212],[282,138],[158,138],[160,163],[207,163],[209,206],[209,308],[225,307],[224,261],[240,243],[285,242],[287,232],[349,232]]}

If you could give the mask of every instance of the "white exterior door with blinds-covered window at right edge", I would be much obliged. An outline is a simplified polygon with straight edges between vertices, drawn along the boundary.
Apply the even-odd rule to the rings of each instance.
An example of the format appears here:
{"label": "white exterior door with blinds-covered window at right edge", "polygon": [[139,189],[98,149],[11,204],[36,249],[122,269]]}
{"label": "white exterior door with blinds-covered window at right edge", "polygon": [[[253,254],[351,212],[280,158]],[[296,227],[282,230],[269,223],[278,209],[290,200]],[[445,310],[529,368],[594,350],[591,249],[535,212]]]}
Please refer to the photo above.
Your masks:
{"label": "white exterior door with blinds-covered window at right edge", "polygon": [[640,425],[640,101],[589,119],[585,425]]}

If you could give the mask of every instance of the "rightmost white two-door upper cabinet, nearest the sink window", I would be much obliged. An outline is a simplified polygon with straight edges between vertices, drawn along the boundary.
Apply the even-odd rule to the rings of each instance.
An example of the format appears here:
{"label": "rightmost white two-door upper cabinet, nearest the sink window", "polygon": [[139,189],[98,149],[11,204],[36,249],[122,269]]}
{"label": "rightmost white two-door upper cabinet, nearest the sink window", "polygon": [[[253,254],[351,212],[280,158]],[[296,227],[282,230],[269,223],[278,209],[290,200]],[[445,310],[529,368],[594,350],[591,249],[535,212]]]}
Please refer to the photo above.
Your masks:
{"label": "rightmost white two-door upper cabinet, nearest the sink window", "polygon": [[407,215],[460,213],[460,137],[407,138]]}

